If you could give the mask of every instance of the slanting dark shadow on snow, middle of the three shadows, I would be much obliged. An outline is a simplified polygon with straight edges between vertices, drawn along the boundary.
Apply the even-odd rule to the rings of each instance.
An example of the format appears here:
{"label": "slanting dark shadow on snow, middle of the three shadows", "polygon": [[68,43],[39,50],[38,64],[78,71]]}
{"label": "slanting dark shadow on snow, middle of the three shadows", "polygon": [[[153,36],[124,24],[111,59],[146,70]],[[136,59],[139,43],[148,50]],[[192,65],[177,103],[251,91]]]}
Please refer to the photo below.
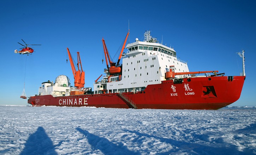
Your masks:
{"label": "slanting dark shadow on snow, middle of the three shadows", "polygon": [[104,155],[140,155],[140,153],[129,150],[122,143],[115,144],[107,140],[107,138],[96,136],[81,128],[76,128],[76,130],[86,136],[89,144],[94,150],[99,149]]}

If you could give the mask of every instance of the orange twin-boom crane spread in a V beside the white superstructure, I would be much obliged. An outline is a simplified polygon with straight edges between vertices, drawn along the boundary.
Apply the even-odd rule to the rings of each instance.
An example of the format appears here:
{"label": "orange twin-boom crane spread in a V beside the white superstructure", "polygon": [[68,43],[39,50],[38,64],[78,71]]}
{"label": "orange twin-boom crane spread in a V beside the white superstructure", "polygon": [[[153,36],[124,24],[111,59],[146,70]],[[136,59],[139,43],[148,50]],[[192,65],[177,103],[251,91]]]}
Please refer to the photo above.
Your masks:
{"label": "orange twin-boom crane spread in a V beside the white superstructure", "polygon": [[[105,59],[106,59],[106,65],[107,65],[107,69],[109,70],[110,74],[117,74],[117,73],[121,72],[121,67],[117,67],[117,65],[120,63],[120,60],[121,60],[121,57],[122,57],[122,54],[123,54],[123,50],[125,48],[125,44],[126,44],[128,35],[129,35],[129,32],[127,33],[126,38],[124,40],[124,43],[123,43],[123,46],[122,46],[122,49],[121,49],[121,52],[120,52],[117,63],[114,63],[114,62],[111,61],[110,56],[109,56],[109,51],[107,50],[107,46],[105,44],[105,40],[102,38],[103,49],[104,49],[104,54],[105,54]],[[109,67],[109,64],[107,62],[107,59],[109,60],[110,67]]]}

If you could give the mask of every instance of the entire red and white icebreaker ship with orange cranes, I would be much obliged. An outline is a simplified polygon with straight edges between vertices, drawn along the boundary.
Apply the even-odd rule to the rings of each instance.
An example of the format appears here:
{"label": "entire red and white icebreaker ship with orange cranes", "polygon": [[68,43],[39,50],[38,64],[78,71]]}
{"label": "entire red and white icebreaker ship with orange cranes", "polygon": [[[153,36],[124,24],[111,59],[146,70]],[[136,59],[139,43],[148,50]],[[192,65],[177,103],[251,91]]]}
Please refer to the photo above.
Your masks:
{"label": "entire red and white icebreaker ship with orange cranes", "polygon": [[[32,105],[95,106],[105,108],[135,109],[219,109],[240,97],[244,80],[240,76],[224,76],[218,71],[190,72],[187,62],[177,58],[173,48],[158,43],[150,31],[144,34],[144,41],[137,38],[126,46],[129,32],[115,63],[103,39],[106,68],[101,80],[95,80],[92,88],[83,88],[85,72],[79,52],[78,70],[69,59],[75,79],[75,87],[68,77],[58,76],[53,82],[43,82],[39,94],[31,96]],[[122,59],[122,64],[120,60]],[[79,68],[81,66],[81,71]],[[99,81],[98,81],[99,80]]]}

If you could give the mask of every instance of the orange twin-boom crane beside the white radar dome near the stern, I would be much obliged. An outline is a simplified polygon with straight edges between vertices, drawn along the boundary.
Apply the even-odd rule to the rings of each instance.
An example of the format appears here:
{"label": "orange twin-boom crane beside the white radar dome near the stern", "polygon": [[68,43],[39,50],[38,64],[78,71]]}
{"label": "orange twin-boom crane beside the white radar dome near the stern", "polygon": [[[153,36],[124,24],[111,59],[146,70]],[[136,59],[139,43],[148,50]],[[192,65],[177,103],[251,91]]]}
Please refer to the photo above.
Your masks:
{"label": "orange twin-boom crane beside the white radar dome near the stern", "polygon": [[[75,87],[76,88],[83,88],[85,86],[85,71],[83,71],[83,68],[82,68],[80,54],[79,54],[79,52],[77,52],[77,67],[78,67],[78,70],[76,70],[73,59],[72,59],[72,56],[69,52],[68,47],[67,47],[67,50],[68,50],[68,54],[69,54],[70,65],[71,65],[72,72],[73,72],[74,79],[75,79],[75,81],[74,81]],[[79,66],[81,66],[81,71],[79,69]]]}

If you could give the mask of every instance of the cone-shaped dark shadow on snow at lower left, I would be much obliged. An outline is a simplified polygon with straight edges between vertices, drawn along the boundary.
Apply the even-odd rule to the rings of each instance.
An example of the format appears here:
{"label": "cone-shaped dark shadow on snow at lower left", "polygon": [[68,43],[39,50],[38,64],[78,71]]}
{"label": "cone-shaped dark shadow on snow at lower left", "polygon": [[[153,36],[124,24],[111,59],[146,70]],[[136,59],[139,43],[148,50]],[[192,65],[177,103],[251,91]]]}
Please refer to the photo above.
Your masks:
{"label": "cone-shaped dark shadow on snow at lower left", "polygon": [[43,127],[38,127],[36,132],[28,137],[20,155],[57,155],[54,147]]}

